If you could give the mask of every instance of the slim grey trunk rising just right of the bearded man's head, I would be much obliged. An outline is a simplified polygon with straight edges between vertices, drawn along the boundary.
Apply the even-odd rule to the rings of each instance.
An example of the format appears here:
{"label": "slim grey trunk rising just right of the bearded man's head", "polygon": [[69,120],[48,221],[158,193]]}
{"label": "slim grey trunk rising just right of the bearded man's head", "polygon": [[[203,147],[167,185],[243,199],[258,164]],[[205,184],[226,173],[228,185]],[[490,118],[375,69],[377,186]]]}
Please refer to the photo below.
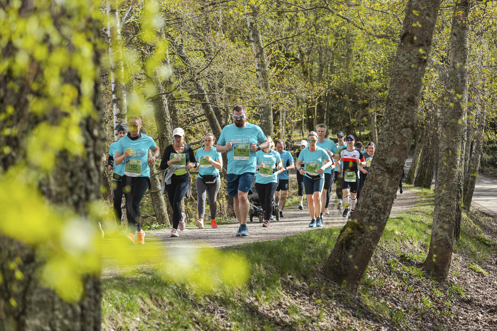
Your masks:
{"label": "slim grey trunk rising just right of the bearded man's head", "polygon": [[245,1],[245,6],[249,6],[252,13],[247,15],[248,38],[252,45],[253,57],[255,62],[255,76],[262,95],[265,100],[259,104],[260,128],[266,136],[273,135],[273,110],[271,104],[271,89],[269,87],[269,70],[267,69],[266,51],[262,45],[262,37],[259,27],[256,24],[259,13],[257,7]]}

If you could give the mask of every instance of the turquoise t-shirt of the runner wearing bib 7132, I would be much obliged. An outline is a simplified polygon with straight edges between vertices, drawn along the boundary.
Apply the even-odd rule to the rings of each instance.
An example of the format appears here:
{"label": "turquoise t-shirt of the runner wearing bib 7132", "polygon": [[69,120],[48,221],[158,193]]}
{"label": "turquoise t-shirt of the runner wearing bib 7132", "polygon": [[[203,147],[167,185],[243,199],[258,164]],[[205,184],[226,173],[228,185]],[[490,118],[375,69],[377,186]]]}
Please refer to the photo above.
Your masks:
{"label": "turquoise t-shirt of the runner wearing bib 7132", "polygon": [[150,168],[147,163],[147,160],[149,159],[149,149],[154,149],[157,145],[152,137],[146,135],[145,133],[141,134],[142,136],[137,140],[131,140],[127,135],[119,139],[117,141],[118,144],[116,146],[116,152],[124,154],[126,149],[131,148],[133,150],[133,155],[126,157],[121,163],[123,165],[124,172],[126,172],[126,160],[131,160],[128,161],[128,163],[137,165],[138,168],[140,168],[140,162],[138,161],[141,161],[140,176],[133,177],[150,177]]}

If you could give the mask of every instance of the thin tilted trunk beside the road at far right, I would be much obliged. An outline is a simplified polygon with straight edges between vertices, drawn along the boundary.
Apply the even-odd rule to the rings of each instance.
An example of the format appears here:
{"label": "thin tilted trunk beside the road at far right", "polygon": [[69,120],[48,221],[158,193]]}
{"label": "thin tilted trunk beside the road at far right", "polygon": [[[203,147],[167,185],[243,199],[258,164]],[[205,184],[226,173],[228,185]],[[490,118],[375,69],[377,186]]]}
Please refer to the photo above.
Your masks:
{"label": "thin tilted trunk beside the road at far right", "polygon": [[480,169],[480,158],[483,150],[483,138],[485,130],[485,111],[481,109],[476,117],[476,132],[475,138],[473,140],[473,149],[471,151],[468,171],[466,171],[466,178],[464,181],[464,199],[463,207],[466,211],[469,211],[471,207],[471,201],[473,200],[473,193],[475,192],[476,178],[478,176],[478,170]]}

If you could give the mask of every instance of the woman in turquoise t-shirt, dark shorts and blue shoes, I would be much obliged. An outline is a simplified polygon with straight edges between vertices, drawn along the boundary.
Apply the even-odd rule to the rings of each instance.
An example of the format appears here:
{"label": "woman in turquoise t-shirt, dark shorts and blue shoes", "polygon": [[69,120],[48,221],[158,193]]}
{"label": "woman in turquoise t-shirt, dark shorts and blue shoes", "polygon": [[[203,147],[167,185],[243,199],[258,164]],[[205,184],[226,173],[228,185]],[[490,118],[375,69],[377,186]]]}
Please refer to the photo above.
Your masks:
{"label": "woman in turquoise t-shirt, dark shorts and blue shoes", "polygon": [[[318,133],[309,132],[308,140],[309,147],[304,148],[297,159],[297,171],[304,175],[304,188],[311,214],[309,227],[312,228],[322,226],[323,220],[318,215],[321,212],[321,191],[325,184],[324,172],[333,162],[326,150],[316,145]],[[302,168],[303,162],[305,168]]]}

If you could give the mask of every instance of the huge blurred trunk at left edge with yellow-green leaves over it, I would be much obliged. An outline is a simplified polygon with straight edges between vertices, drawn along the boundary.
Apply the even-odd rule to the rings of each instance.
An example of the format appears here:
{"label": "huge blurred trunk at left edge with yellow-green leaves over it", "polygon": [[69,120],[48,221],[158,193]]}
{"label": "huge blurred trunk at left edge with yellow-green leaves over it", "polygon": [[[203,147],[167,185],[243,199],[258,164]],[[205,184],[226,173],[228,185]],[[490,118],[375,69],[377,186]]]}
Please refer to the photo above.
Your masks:
{"label": "huge blurred trunk at left edge with yellow-green leaves over it", "polygon": [[[47,205],[60,207],[61,212],[63,209],[70,209],[78,215],[79,220],[88,222],[85,224],[87,227],[94,227],[95,224],[88,220],[91,218],[87,217],[88,205],[100,198],[102,175],[100,160],[104,151],[100,82],[95,81],[100,77],[98,72],[100,54],[97,46],[99,27],[91,18],[91,10],[94,8],[91,1],[69,7],[62,2],[56,6],[50,1],[48,5],[40,5],[37,1],[22,1],[19,2],[20,7],[13,7],[11,3],[1,1],[0,10],[15,12],[24,19],[27,17],[51,19],[57,21],[59,25],[57,29],[50,30],[50,35],[48,30],[40,27],[39,40],[41,45],[48,47],[48,54],[40,62],[29,56],[26,58],[28,63],[25,67],[14,67],[13,59],[19,54],[31,51],[24,48],[19,50],[8,40],[13,37],[21,40],[31,36],[31,33],[20,31],[15,32],[20,35],[13,35],[14,30],[3,31],[2,40],[5,40],[5,43],[0,46],[4,61],[0,73],[0,117],[2,118],[0,131],[4,132],[5,129],[10,128],[15,129],[17,134],[0,135],[0,146],[4,147],[3,153],[0,153],[0,173],[5,174],[10,170],[15,174],[21,169],[22,172],[15,175],[18,179],[12,180],[23,181],[23,184],[39,188]],[[80,24],[80,20],[85,23]],[[83,36],[81,44],[77,46],[85,43],[84,51],[72,45],[71,40],[68,41],[70,45],[67,46],[66,51],[67,56],[72,59],[79,58],[84,61],[84,71],[80,71],[82,68],[75,67],[70,62],[69,67],[66,68],[49,60],[53,55],[51,54],[53,49],[60,47],[60,45],[51,45],[50,41],[64,40],[64,36],[58,31],[71,31]],[[48,80],[44,76],[46,71],[42,69],[43,67],[52,67],[52,74],[56,68],[60,69],[60,74],[56,74],[53,80]],[[84,86],[81,79],[83,76]],[[70,106],[57,103],[62,94],[57,94],[59,92],[57,90],[51,90],[50,84],[59,83],[58,79],[66,91],[75,92],[72,96],[69,95],[71,93],[65,96],[72,97],[70,100],[65,100]],[[33,82],[37,82],[36,90],[31,89],[34,86]],[[33,96],[44,102],[43,109],[38,108],[36,115],[30,108],[33,106],[31,104]],[[12,113],[8,112],[9,108],[13,110]],[[71,118],[70,132],[66,132],[69,118]],[[77,119],[79,122],[75,123]],[[75,127],[72,127],[73,124]],[[40,155],[54,156],[53,167],[41,170],[40,164],[36,163],[37,160],[28,156],[31,152],[28,146],[30,138],[40,130],[47,130],[47,126],[60,129],[57,137],[68,141],[69,144],[77,144],[78,148],[81,147],[81,153],[76,149],[68,151],[65,147],[58,146],[53,146],[53,150],[36,150]],[[75,138],[81,141],[74,142]],[[40,139],[37,142],[49,145],[49,139],[52,137],[47,137],[44,141],[44,136]],[[2,176],[0,176],[1,181]],[[9,208],[12,207],[2,205],[2,212],[6,212],[6,215],[17,212],[8,210]],[[53,226],[51,239],[54,242],[50,242],[49,245],[59,243],[56,231],[60,229],[56,229],[55,224]],[[39,249],[35,249],[31,245],[0,234],[0,330],[99,331],[101,327],[99,275],[83,275],[83,293],[79,302],[64,301],[53,289],[47,288],[42,283],[40,268],[45,265],[46,246],[42,242],[38,247]],[[63,272],[63,269],[56,271]]]}

